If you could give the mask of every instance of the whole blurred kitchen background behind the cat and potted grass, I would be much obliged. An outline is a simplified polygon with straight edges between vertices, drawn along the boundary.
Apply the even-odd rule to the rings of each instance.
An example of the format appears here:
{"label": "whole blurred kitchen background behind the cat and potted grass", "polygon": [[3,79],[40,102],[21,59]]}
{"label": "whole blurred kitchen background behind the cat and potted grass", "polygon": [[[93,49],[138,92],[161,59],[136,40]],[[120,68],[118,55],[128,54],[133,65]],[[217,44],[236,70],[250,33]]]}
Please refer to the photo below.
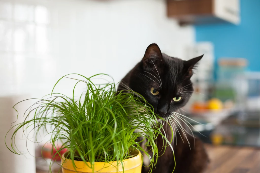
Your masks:
{"label": "whole blurred kitchen background behind the cat and potted grass", "polygon": [[69,73],[119,82],[154,42],[184,60],[205,54],[181,113],[198,122],[207,171],[260,172],[259,9],[259,0],[0,0],[0,172],[49,169],[51,146],[45,159],[41,144],[17,144],[23,156],[6,149],[15,103],[49,94]]}

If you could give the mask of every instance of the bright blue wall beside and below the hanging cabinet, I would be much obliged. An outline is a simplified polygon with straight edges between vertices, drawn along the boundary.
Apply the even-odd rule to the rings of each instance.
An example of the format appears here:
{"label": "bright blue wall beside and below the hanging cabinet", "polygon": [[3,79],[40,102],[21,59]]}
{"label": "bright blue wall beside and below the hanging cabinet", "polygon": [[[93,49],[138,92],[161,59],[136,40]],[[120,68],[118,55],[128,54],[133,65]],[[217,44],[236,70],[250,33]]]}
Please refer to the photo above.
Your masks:
{"label": "bright blue wall beside and below the hanging cabinet", "polygon": [[215,58],[241,57],[249,70],[260,71],[260,0],[241,0],[241,24],[195,26],[196,41],[211,41]]}

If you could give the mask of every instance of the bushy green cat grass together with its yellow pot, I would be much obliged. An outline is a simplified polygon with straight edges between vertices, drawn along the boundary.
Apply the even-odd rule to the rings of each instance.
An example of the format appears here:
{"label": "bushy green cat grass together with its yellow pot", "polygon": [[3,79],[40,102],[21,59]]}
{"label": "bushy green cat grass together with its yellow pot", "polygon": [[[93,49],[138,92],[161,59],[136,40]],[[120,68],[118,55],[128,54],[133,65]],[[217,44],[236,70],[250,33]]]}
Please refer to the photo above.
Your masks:
{"label": "bushy green cat grass together with its yellow pot", "polygon": [[[156,145],[158,135],[170,144],[161,130],[163,124],[158,123],[163,121],[157,121],[160,117],[153,113],[153,108],[138,93],[116,92],[114,82],[93,83],[94,78],[108,75],[99,74],[89,78],[79,74],[70,75],[83,78],[83,80],[76,79],[72,97],[54,93],[60,80],[68,78],[68,75],[63,76],[54,85],[50,95],[37,99],[37,102],[27,109],[23,123],[11,127],[15,130],[9,150],[21,154],[15,147],[17,131],[22,130],[27,137],[30,133],[34,133],[36,142],[38,135],[45,131],[51,134],[49,142],[56,150],[53,158],[57,155],[62,157],[63,173],[75,171],[140,173],[142,166],[140,151],[150,159],[152,170],[161,151]],[[85,89],[77,97],[76,92],[80,83],[85,85]],[[137,140],[139,137],[146,138],[145,146],[151,148],[150,154],[141,147],[140,140],[139,142]],[[31,140],[29,137],[27,139]],[[62,147],[57,148],[55,145],[57,142],[62,142]],[[68,151],[61,156],[60,151],[65,148]]]}

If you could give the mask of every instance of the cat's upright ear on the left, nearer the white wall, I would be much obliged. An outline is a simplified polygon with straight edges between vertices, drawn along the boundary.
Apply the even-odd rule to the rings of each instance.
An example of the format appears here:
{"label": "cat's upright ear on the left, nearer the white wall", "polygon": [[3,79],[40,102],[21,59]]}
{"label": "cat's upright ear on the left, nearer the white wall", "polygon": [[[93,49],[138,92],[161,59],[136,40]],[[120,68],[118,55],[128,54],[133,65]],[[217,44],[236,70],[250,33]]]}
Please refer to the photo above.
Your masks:
{"label": "cat's upright ear on the left, nearer the white wall", "polygon": [[142,61],[144,69],[160,66],[163,63],[163,58],[159,46],[155,43],[150,44],[146,48]]}

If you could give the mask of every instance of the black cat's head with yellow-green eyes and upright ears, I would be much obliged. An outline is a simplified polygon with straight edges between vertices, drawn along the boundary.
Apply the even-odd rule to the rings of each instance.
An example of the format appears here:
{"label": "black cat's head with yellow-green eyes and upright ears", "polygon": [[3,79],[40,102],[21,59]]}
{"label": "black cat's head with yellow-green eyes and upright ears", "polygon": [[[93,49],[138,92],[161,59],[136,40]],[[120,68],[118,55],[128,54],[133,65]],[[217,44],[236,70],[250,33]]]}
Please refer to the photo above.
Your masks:
{"label": "black cat's head with yellow-green eyes and upright ears", "polygon": [[156,114],[170,116],[189,101],[193,93],[190,78],[202,57],[184,61],[162,54],[157,44],[150,44],[131,71],[129,86],[153,106]]}

